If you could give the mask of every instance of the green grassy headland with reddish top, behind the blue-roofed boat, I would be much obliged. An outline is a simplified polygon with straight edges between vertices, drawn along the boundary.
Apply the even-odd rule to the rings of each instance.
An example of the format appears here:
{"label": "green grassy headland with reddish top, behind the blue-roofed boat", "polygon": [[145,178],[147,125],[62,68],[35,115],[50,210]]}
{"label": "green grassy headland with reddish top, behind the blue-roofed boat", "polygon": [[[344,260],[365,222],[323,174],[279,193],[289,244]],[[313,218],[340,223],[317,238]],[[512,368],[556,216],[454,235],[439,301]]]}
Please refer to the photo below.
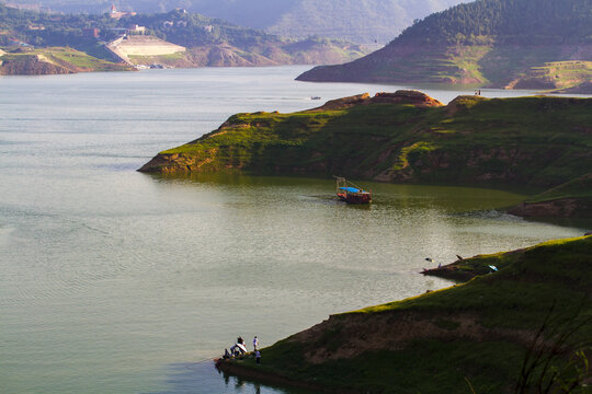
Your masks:
{"label": "green grassy headland with reddish top, behind the blue-roofed boat", "polygon": [[[341,174],[543,190],[590,174],[591,148],[592,99],[459,96],[444,106],[420,92],[399,91],[294,114],[237,114],[217,130],[159,153],[140,171]],[[582,193],[591,193],[589,186],[582,183]],[[574,189],[566,185],[547,199],[583,204]],[[592,217],[585,207],[560,212]]]}

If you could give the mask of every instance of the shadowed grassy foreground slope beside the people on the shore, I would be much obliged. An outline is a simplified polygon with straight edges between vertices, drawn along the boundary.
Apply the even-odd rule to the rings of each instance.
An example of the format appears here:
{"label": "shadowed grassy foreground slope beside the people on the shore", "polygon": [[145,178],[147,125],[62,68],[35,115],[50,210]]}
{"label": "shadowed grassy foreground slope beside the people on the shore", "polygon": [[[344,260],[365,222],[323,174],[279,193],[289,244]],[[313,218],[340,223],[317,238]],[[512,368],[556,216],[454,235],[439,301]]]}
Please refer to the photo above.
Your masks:
{"label": "shadowed grassy foreground slope beside the people on the shore", "polygon": [[474,279],[331,315],[262,349],[260,364],[218,368],[327,393],[589,392],[592,236],[454,266]]}

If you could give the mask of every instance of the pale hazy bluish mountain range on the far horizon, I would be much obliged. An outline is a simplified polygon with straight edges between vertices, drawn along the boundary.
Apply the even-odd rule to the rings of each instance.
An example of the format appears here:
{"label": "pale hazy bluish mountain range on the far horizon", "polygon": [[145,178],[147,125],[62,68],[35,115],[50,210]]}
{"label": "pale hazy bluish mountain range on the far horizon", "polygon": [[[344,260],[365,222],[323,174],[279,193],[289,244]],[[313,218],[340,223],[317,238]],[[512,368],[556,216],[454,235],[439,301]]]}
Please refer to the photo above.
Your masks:
{"label": "pale hazy bluish mountain range on the far horizon", "polygon": [[413,20],[468,0],[9,0],[20,7],[104,13],[123,11],[190,12],[220,18],[241,26],[286,37],[319,35],[357,44],[388,43]]}

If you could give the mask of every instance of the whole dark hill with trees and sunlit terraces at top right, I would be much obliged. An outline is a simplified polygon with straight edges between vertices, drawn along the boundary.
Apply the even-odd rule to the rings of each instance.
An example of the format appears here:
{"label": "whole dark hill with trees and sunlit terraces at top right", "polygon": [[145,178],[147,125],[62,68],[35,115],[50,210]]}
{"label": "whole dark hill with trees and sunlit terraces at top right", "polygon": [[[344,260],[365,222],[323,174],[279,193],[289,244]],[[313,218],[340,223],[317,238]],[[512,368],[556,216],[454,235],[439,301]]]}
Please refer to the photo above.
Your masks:
{"label": "whole dark hill with trees and sunlit terraces at top right", "polygon": [[298,79],[590,93],[591,60],[590,0],[478,0],[425,18],[362,59]]}

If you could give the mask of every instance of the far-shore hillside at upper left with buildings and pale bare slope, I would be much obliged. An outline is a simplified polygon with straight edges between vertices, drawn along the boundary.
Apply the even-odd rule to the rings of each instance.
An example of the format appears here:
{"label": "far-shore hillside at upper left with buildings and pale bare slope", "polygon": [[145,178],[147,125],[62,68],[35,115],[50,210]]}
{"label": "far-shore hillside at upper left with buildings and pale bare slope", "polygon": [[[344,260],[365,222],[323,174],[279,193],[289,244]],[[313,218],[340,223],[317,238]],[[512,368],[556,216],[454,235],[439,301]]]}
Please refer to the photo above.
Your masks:
{"label": "far-shore hillside at upper left with buildings and pale bare slope", "polygon": [[111,18],[110,14],[49,14],[0,4],[0,46],[71,47],[93,57],[118,60],[105,43],[122,36],[134,40],[138,35],[135,26],[145,27],[139,32],[166,40],[169,46],[178,45],[186,50],[158,55],[155,48],[167,43],[152,43],[144,58],[129,61],[124,56],[123,60],[129,63],[171,67],[339,63],[367,53],[349,42],[320,37],[284,39],[182,10]]}

